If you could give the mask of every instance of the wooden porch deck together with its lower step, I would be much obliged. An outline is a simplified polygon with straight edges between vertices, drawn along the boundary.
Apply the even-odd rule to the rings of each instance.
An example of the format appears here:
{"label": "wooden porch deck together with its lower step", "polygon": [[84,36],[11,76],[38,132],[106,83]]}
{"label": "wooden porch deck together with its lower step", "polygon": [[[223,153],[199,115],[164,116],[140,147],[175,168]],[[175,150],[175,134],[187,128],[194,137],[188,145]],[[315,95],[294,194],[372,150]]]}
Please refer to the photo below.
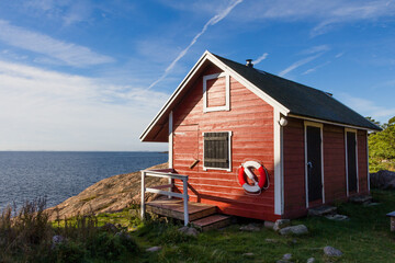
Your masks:
{"label": "wooden porch deck together with its lower step", "polygon": [[[146,203],[148,211],[176,218],[184,219],[182,199],[157,199]],[[230,217],[219,215],[217,207],[202,203],[188,202],[188,211],[191,225],[201,231],[226,227],[230,222]]]}

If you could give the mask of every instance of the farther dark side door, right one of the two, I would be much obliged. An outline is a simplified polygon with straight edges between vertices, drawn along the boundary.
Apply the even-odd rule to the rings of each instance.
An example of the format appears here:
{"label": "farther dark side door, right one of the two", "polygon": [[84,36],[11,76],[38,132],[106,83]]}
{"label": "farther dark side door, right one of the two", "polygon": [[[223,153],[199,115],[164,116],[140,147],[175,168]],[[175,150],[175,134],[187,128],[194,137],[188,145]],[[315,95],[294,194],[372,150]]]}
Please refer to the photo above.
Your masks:
{"label": "farther dark side door, right one of the two", "polygon": [[349,193],[357,192],[357,139],[356,133],[347,132],[347,174]]}

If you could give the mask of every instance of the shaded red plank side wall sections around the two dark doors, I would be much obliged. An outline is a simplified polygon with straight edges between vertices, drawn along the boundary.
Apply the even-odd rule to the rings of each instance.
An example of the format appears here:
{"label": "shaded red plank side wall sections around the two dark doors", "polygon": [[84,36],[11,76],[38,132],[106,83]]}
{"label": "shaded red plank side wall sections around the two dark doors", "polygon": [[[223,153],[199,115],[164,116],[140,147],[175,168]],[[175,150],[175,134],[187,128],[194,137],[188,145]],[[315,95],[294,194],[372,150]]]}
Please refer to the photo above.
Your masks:
{"label": "shaded red plank side wall sections around the two dark doors", "polygon": [[[306,215],[304,121],[283,128],[284,218]],[[347,199],[345,127],[323,125],[325,203]],[[368,194],[366,132],[358,130],[359,193]]]}

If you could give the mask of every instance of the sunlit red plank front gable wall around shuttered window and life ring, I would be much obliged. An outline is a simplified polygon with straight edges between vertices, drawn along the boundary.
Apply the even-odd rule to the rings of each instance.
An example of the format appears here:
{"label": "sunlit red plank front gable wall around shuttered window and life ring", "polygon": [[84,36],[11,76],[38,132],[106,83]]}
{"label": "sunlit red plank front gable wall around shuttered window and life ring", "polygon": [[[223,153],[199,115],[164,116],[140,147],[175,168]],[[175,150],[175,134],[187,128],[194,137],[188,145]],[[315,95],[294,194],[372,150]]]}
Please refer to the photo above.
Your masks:
{"label": "sunlit red plank front gable wall around shuttered window and life ring", "polygon": [[[191,201],[217,205],[229,215],[275,220],[279,216],[274,215],[273,108],[230,78],[230,111],[203,113],[203,76],[219,72],[214,66],[206,68],[173,111],[173,168],[189,175]],[[225,94],[218,83],[208,93],[208,99],[217,100],[214,105],[223,103],[221,98]],[[233,133],[232,172],[203,170],[202,133],[212,132]],[[200,162],[190,169],[195,159]],[[269,171],[270,188],[258,196],[247,195],[238,184],[237,170],[246,160],[258,160]],[[179,183],[176,185],[182,191]]]}

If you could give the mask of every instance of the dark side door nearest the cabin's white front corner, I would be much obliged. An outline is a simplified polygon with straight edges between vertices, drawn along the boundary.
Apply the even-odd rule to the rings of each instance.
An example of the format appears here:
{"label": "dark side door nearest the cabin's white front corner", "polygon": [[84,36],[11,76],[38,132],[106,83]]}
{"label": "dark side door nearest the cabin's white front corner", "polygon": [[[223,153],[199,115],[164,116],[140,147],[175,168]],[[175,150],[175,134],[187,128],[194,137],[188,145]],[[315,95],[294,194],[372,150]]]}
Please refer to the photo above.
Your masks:
{"label": "dark side door nearest the cabin's white front corner", "polygon": [[320,128],[307,126],[307,186],[308,202],[323,198]]}

